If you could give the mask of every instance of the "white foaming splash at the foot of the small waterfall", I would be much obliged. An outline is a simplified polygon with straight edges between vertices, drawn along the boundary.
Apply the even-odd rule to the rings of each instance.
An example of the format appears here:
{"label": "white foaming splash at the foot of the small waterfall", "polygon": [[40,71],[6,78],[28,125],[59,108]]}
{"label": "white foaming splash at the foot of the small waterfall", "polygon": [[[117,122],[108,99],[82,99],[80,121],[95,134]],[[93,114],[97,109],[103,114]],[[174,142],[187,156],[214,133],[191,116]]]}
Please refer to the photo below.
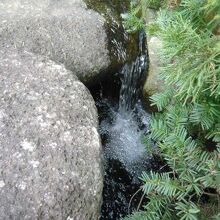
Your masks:
{"label": "white foaming splash at the foot of the small waterfall", "polygon": [[142,130],[139,128],[139,123],[133,112],[111,110],[113,122],[104,120],[100,126],[101,133],[108,136],[105,157],[106,159],[119,160],[132,176],[138,177],[144,170],[148,157],[142,142],[150,117],[143,110],[139,118],[140,123],[145,126],[145,129]]}

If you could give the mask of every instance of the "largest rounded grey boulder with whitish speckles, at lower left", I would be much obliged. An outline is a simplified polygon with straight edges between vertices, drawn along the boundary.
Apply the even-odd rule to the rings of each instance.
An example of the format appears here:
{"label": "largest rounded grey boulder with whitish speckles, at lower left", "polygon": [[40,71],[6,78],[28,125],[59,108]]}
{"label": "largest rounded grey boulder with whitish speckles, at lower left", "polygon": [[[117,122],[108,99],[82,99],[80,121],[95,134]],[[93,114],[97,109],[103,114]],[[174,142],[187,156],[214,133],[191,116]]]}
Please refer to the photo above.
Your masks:
{"label": "largest rounded grey boulder with whitish speckles, at lower left", "polygon": [[97,112],[63,66],[0,49],[0,219],[98,219]]}

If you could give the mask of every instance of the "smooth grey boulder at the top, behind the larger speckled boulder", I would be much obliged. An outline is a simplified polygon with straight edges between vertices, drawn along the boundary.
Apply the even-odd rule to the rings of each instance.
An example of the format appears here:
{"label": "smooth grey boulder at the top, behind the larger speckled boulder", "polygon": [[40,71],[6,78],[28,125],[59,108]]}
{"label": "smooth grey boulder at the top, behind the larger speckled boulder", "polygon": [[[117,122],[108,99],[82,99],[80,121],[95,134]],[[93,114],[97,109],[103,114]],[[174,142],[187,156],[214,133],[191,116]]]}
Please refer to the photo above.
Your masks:
{"label": "smooth grey boulder at the top, behind the larger speckled boulder", "polygon": [[83,82],[110,65],[104,18],[81,0],[1,0],[0,46],[63,63]]}

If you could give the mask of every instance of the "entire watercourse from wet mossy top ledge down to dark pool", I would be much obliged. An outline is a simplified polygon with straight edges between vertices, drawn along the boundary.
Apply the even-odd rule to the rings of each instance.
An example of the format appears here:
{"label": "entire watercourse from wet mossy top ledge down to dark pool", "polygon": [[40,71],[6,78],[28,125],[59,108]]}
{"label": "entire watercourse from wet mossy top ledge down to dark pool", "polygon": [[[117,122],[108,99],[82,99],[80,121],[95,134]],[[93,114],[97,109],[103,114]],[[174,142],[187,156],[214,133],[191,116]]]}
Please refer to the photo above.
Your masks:
{"label": "entire watercourse from wet mossy top ledge down to dark pool", "polygon": [[113,65],[107,78],[90,88],[99,111],[100,134],[105,159],[103,205],[100,220],[118,220],[146,201],[140,191],[142,171],[158,170],[143,144],[150,114],[141,102],[147,73],[146,36],[124,31],[121,13],[129,0],[87,0],[104,14],[108,49]]}

